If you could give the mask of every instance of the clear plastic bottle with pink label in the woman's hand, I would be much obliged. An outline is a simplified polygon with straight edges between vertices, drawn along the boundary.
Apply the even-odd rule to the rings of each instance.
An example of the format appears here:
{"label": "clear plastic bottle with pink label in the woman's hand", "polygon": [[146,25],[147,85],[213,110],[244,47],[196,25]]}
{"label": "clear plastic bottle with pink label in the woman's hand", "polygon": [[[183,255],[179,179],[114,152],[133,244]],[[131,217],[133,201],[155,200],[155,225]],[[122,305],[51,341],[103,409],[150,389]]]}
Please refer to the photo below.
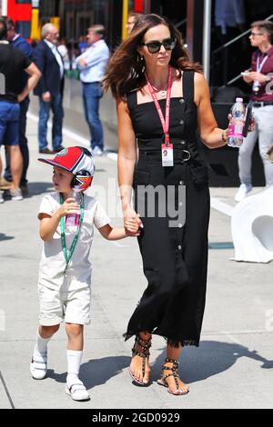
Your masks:
{"label": "clear plastic bottle with pink label in the woman's hand", "polygon": [[227,145],[240,147],[243,144],[244,118],[246,114],[243,98],[236,98],[236,103],[232,106],[230,114],[232,118],[228,125]]}

